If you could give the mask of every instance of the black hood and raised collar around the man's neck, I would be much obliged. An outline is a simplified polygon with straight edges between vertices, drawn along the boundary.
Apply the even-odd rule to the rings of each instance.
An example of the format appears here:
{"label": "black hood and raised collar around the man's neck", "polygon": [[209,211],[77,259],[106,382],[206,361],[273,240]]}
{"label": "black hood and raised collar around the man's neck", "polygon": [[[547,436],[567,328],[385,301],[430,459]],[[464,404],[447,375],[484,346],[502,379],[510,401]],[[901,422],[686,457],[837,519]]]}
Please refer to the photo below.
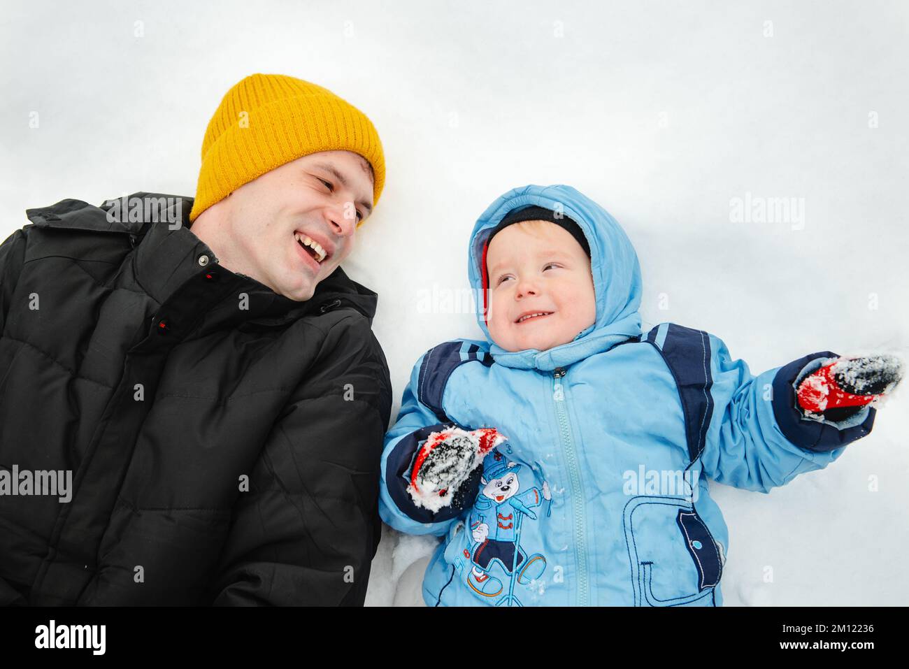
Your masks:
{"label": "black hood and raised collar around the man's neck", "polygon": [[[25,214],[39,226],[129,235],[135,246],[135,280],[161,305],[187,282],[214,275],[218,283],[216,295],[222,300],[210,306],[218,325],[225,321],[281,325],[308,313],[321,314],[340,306],[355,308],[372,323],[378,296],[351,280],[340,267],[319,282],[313,297],[297,302],[278,295],[250,276],[218,265],[212,249],[190,229],[192,208],[191,197],[139,192],[107,200],[100,207],[66,199],[55,205],[28,209]],[[155,215],[146,214],[152,212]],[[204,255],[207,263],[200,265]],[[247,295],[245,310],[236,306],[237,295],[241,293]]]}

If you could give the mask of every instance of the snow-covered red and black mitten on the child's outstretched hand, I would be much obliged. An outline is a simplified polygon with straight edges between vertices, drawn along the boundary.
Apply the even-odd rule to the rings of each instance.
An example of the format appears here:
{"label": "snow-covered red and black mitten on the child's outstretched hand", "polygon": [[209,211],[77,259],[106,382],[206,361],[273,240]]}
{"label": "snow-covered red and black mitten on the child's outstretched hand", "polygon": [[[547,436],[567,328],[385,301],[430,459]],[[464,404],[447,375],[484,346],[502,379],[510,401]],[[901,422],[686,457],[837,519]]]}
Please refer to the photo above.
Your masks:
{"label": "snow-covered red and black mitten on the child's outstretched hand", "polygon": [[798,403],[808,417],[841,421],[866,404],[879,406],[902,377],[903,363],[895,355],[839,357],[804,377]]}

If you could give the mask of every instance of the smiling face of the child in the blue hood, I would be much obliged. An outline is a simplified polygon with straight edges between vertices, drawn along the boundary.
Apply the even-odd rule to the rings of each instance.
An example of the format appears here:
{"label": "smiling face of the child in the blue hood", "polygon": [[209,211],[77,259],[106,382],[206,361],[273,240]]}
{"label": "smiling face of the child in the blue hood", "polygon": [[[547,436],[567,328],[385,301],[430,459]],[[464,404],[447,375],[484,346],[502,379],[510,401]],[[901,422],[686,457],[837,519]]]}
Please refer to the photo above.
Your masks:
{"label": "smiling face of the child in the blue hood", "polygon": [[[596,320],[590,258],[564,228],[548,221],[515,223],[486,250],[486,327],[505,351],[544,351],[567,344]],[[544,315],[522,318],[525,315]]]}

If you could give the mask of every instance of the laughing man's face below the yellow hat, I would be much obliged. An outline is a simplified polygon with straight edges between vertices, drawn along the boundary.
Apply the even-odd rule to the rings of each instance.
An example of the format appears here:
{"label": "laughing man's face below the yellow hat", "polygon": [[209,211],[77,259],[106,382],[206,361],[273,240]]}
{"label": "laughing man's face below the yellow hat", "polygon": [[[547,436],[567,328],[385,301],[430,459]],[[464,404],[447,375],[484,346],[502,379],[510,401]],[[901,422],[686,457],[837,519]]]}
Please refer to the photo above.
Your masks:
{"label": "laughing man's face below the yellow hat", "polygon": [[353,249],[357,225],[372,212],[372,174],[350,151],[305,155],[237,188],[192,232],[225,268],[302,302]]}

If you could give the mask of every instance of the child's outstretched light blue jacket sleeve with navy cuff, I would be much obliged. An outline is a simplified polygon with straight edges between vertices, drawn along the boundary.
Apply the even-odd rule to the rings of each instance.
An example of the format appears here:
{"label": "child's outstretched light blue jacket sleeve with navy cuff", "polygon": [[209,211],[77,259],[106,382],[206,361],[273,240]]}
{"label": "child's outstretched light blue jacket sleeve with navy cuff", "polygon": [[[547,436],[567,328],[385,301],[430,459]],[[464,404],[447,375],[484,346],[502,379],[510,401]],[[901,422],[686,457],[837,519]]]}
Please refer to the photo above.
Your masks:
{"label": "child's outstretched light blue jacket sleeve with navy cuff", "polygon": [[839,422],[805,417],[795,388],[806,374],[838,357],[805,355],[756,376],[710,335],[713,416],[704,443],[704,474],[722,484],[769,493],[798,474],[823,469],[845,446],[871,432],[874,409]]}

